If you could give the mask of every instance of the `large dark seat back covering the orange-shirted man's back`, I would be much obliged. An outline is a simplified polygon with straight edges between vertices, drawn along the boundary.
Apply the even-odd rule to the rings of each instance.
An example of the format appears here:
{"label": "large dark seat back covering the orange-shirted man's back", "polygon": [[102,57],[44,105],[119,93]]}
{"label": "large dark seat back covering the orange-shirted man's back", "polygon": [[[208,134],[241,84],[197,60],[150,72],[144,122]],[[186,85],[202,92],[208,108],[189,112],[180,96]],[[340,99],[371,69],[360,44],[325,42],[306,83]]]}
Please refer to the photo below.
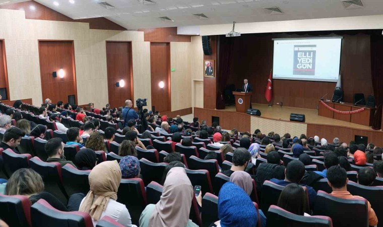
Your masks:
{"label": "large dark seat back covering the orange-shirted man's back", "polygon": [[313,215],[329,216],[333,220],[334,226],[368,226],[367,200],[364,198],[341,199],[327,192],[318,191],[316,193]]}

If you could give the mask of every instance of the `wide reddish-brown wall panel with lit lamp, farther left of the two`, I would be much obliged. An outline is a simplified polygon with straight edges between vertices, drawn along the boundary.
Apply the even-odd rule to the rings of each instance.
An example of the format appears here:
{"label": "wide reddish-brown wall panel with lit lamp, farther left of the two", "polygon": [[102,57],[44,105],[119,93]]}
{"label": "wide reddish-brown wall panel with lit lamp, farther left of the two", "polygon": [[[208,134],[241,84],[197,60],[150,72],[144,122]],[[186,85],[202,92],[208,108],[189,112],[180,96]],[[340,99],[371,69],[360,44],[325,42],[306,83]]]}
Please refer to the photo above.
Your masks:
{"label": "wide reddish-brown wall panel with lit lamp, farther left of the two", "polygon": [[74,95],[78,104],[74,52],[73,41],[39,41],[42,103],[66,103]]}

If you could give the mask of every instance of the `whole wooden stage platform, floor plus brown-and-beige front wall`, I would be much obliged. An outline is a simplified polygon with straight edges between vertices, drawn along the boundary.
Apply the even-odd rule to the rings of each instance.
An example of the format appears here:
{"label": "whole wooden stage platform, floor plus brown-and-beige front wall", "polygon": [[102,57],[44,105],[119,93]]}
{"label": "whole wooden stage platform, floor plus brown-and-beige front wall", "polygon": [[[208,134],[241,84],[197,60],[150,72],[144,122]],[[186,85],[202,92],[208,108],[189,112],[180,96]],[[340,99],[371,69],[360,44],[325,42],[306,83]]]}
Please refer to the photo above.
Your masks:
{"label": "whole wooden stage platform, floor plus brown-and-beige front wall", "polygon": [[[268,106],[265,104],[252,103],[252,108],[261,111],[261,117],[247,115],[235,111],[235,106],[226,106],[226,109],[207,109],[194,107],[194,116],[199,121],[206,120],[208,125],[212,124],[212,117],[219,118],[219,124],[223,129],[231,130],[236,128],[238,131],[248,131],[260,129],[263,134],[273,131],[283,136],[290,133],[291,136],[306,134],[307,137],[319,136],[326,138],[329,143],[335,137],[342,142],[349,143],[355,140],[355,135],[368,137],[368,142],[377,146],[383,146],[383,132],[372,130],[371,127],[344,122],[331,118],[318,116],[318,110],[296,108],[288,106]],[[290,113],[302,113],[305,115],[306,122],[290,122]]]}

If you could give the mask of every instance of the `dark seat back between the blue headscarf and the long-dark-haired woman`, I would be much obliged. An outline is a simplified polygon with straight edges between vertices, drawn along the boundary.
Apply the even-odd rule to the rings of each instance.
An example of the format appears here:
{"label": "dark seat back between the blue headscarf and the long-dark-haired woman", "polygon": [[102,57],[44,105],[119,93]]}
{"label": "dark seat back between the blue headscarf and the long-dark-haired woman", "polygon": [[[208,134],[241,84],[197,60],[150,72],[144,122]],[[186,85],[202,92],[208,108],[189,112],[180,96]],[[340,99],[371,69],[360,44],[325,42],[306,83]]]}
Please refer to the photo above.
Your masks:
{"label": "dark seat back between the blue headscarf and the long-dark-haired woman", "polygon": [[262,186],[261,209],[269,210],[271,205],[277,205],[279,196],[285,187],[265,181]]}

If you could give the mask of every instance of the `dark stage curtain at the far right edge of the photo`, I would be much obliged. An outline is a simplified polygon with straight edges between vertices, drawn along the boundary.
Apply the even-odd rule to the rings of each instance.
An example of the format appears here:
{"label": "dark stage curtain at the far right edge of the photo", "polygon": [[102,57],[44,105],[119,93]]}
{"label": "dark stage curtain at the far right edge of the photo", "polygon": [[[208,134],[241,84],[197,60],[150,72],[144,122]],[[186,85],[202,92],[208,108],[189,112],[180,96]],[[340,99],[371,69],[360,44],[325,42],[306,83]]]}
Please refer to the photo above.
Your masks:
{"label": "dark stage curtain at the far right edge of the photo", "polygon": [[381,128],[381,113],[383,104],[383,36],[371,35],[371,80],[375,97],[376,111],[373,117],[372,129]]}

